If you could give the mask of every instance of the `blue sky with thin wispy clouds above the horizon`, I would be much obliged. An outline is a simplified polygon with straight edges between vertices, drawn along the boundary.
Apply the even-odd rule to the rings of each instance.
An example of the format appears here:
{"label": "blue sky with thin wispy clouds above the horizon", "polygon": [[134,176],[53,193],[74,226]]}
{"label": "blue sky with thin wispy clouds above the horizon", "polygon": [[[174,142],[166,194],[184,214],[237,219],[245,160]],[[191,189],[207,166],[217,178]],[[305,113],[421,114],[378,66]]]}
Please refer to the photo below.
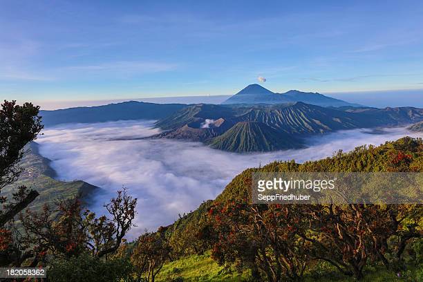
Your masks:
{"label": "blue sky with thin wispy clouds above the horizon", "polygon": [[0,98],[423,88],[422,1],[0,1]]}

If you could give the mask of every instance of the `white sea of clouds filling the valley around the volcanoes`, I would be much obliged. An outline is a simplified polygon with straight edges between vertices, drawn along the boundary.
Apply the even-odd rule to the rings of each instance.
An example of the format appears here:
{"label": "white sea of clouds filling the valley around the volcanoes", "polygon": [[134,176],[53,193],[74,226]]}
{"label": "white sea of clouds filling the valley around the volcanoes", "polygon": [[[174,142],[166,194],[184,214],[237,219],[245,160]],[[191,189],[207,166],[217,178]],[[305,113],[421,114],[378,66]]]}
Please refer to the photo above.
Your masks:
{"label": "white sea of clouds filling the valley around the volcanoes", "polygon": [[361,144],[382,144],[404,135],[423,137],[404,128],[379,131],[355,129],[315,136],[306,149],[272,153],[237,154],[210,149],[198,142],[149,140],[160,132],[151,121],[65,124],[44,129],[37,142],[40,153],[52,160],[60,180],[84,180],[102,189],[93,209],[102,205],[122,186],[138,198],[138,215],[131,236],[145,229],[155,231],[196,209],[203,200],[214,199],[225,185],[248,167],[274,160],[317,160]]}

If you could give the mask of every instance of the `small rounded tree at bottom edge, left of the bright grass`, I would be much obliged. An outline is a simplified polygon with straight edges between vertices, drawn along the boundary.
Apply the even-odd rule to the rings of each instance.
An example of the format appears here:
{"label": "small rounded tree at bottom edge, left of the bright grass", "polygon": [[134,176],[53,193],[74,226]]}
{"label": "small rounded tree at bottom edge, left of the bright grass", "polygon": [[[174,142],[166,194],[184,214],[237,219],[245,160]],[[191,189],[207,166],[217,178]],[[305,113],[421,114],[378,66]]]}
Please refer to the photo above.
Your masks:
{"label": "small rounded tree at bottom edge, left of the bright grass", "polygon": [[140,276],[147,274],[147,281],[154,282],[156,275],[170,258],[171,248],[165,232],[166,229],[160,227],[158,232],[146,232],[136,241],[131,261]]}

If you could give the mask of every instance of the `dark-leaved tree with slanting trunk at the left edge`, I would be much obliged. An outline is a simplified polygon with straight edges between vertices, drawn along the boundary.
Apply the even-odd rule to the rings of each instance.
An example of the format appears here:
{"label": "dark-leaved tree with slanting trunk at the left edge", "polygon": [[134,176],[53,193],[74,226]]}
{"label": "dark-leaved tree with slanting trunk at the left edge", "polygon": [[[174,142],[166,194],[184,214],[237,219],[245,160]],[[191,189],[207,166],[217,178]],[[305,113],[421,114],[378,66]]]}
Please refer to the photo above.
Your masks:
{"label": "dark-leaved tree with slanting trunk at the left edge", "polygon": [[[22,106],[16,101],[4,101],[0,109],[0,191],[19,178],[22,169],[19,160],[23,156],[23,147],[37,138],[43,129],[39,106],[25,103]],[[19,187],[15,194],[14,202],[7,203],[5,197],[0,198],[0,203],[7,203],[6,209],[0,213],[0,227],[14,218],[21,210],[25,209],[32,200],[38,196],[37,191],[27,187]]]}

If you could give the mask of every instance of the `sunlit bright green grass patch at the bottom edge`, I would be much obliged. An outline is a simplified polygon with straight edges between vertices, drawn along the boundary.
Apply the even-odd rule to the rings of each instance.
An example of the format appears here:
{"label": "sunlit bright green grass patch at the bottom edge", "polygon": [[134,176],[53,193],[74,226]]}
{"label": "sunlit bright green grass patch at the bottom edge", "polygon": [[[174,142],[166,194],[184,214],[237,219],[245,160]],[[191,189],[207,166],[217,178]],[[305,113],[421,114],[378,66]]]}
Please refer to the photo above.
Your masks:
{"label": "sunlit bright green grass patch at the bottom edge", "polygon": [[164,265],[159,272],[156,281],[168,282],[176,277],[182,277],[184,282],[194,281],[248,281],[250,274],[245,271],[238,273],[229,272],[224,267],[220,267],[216,261],[210,258],[210,254],[186,256],[178,261],[173,261]]}

